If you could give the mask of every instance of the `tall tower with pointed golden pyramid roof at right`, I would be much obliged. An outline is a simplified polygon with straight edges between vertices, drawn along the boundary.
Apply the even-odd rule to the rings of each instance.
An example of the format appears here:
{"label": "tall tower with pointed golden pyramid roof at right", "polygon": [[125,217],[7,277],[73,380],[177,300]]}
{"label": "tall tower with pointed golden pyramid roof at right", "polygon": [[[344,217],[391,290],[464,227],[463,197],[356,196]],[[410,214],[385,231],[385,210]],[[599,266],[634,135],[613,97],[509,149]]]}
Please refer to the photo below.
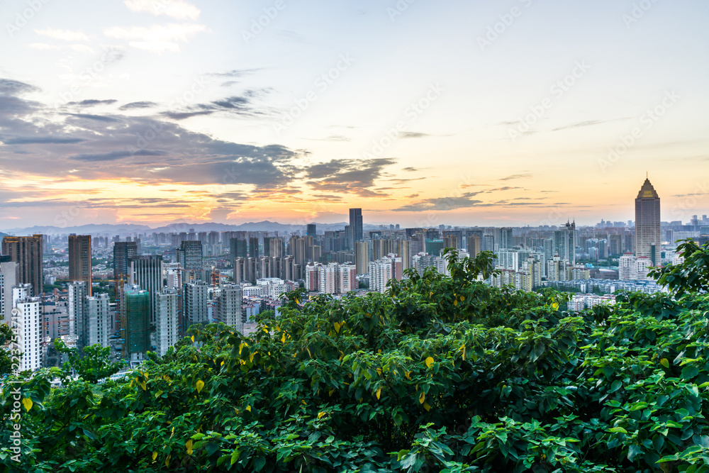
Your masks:
{"label": "tall tower with pointed golden pyramid roof at right", "polygon": [[649,257],[653,266],[661,263],[660,198],[645,179],[635,198],[635,256]]}

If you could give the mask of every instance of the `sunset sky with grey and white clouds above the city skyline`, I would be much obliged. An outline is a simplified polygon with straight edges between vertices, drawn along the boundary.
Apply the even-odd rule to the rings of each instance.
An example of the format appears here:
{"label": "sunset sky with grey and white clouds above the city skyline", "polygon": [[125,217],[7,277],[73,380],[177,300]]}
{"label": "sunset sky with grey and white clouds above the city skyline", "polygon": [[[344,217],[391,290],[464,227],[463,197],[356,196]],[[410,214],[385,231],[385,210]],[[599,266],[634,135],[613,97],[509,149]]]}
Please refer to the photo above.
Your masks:
{"label": "sunset sky with grey and white clouds above the city skyline", "polygon": [[709,213],[706,1],[0,0],[0,230]]}

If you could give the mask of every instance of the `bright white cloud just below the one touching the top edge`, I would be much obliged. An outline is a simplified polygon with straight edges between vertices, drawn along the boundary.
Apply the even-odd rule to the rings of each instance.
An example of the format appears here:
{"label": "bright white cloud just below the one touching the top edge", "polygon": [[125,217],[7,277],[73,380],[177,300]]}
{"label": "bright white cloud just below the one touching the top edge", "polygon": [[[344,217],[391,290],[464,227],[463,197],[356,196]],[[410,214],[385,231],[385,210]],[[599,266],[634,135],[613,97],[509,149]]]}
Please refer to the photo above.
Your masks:
{"label": "bright white cloud just below the one touching the top edge", "polygon": [[148,28],[144,26],[129,28],[113,26],[106,28],[104,35],[108,38],[128,40],[128,45],[133,48],[160,53],[179,51],[178,41],[186,43],[189,38],[203,31],[207,31],[207,27],[196,23],[169,23],[167,25],[152,25]]}

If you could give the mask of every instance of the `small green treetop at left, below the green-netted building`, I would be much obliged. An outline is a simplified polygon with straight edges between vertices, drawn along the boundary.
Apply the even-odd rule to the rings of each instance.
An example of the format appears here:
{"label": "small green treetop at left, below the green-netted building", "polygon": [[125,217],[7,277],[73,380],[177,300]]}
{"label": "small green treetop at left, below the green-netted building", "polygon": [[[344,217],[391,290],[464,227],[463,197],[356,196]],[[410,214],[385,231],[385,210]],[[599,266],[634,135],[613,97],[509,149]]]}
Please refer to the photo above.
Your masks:
{"label": "small green treetop at left, below the green-netted building", "polygon": [[111,362],[111,347],[91,345],[84,347],[83,354],[80,354],[76,348],[67,347],[60,338],[55,338],[54,347],[57,352],[69,357],[69,361],[62,365],[64,382],[75,372],[84,381],[96,384],[99,380],[116,374],[123,367],[123,362]]}

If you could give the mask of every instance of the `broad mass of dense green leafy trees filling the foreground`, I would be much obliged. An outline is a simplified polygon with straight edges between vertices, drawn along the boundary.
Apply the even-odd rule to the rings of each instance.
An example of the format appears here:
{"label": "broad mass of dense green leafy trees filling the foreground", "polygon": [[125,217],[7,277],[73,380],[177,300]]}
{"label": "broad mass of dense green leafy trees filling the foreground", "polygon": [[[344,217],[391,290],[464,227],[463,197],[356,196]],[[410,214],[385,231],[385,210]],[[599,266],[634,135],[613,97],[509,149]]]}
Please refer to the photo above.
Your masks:
{"label": "broad mass of dense green leafy trees filling the foreground", "polygon": [[[449,257],[387,294],[288,294],[245,337],[191,328],[127,379],[26,379],[22,472],[706,473],[709,297],[566,297]],[[24,404],[23,404],[24,405]]]}

